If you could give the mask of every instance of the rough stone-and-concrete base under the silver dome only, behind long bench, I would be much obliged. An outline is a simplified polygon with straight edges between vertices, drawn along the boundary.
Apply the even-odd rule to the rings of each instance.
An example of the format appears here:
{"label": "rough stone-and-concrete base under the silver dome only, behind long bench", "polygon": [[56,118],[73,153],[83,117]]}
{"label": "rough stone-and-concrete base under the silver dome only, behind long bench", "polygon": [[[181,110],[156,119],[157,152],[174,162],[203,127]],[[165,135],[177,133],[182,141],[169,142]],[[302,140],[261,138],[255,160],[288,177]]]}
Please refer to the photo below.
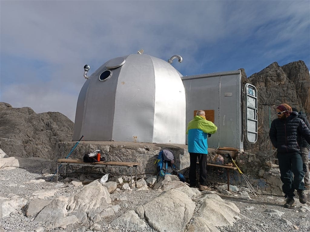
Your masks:
{"label": "rough stone-and-concrete base under the silver dome only, behind long bench", "polygon": [[[53,168],[56,167],[58,159],[65,158],[76,142],[58,143],[57,153],[52,160]],[[156,174],[154,164],[158,153],[162,149],[169,149],[173,152],[175,166],[178,170],[189,167],[189,153],[187,145],[182,144],[151,144],[136,142],[115,142],[115,141],[81,141],[73,150],[71,159],[83,159],[85,154],[95,150],[101,151],[101,157],[106,161],[139,162],[137,173],[140,177],[149,177]],[[75,167],[76,169],[76,167]],[[79,168],[80,172],[90,173],[110,173],[113,175],[129,175],[130,169],[106,167],[106,168]]]}

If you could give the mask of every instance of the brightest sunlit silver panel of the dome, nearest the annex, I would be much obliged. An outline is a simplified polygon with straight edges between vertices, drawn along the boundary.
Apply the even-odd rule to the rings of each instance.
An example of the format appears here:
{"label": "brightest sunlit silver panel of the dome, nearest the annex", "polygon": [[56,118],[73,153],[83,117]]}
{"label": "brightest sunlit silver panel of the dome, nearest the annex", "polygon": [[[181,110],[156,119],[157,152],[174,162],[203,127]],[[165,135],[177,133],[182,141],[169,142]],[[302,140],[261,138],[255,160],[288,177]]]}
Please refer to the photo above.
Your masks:
{"label": "brightest sunlit silver panel of the dome, nearest the annex", "polygon": [[185,90],[168,62],[152,57],[155,73],[154,143],[185,144]]}

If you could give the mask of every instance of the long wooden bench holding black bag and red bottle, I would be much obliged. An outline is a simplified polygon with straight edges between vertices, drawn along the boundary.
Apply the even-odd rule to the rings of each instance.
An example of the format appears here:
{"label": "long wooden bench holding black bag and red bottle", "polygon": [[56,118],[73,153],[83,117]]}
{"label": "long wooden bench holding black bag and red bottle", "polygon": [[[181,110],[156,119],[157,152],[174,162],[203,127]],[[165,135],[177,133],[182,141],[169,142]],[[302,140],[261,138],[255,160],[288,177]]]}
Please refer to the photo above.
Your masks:
{"label": "long wooden bench holding black bag and red bottle", "polygon": [[[106,166],[117,166],[117,167],[125,167],[131,168],[130,180],[132,178],[132,168],[135,167],[136,174],[135,174],[135,181],[137,181],[137,167],[140,163],[133,163],[133,162],[117,162],[117,161],[100,161],[95,163],[85,163],[83,160],[74,160],[74,159],[59,159],[57,160],[57,177],[56,183],[58,182],[58,170],[61,165],[66,165],[65,175],[67,175],[67,165],[73,166],[89,166],[89,167],[106,167]],[[130,181],[131,187],[131,181]]]}

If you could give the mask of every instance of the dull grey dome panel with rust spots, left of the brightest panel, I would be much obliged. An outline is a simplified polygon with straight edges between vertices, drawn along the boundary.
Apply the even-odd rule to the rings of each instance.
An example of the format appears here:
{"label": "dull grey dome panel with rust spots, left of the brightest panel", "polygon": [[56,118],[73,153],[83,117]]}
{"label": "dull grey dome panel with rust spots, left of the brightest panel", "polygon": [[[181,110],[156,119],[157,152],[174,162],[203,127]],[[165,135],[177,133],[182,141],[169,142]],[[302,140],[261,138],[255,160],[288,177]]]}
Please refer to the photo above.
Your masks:
{"label": "dull grey dome panel with rust spots, left of the brightest panel", "polygon": [[150,56],[128,56],[118,77],[115,115],[110,122],[113,140],[152,143],[154,99],[155,76]]}

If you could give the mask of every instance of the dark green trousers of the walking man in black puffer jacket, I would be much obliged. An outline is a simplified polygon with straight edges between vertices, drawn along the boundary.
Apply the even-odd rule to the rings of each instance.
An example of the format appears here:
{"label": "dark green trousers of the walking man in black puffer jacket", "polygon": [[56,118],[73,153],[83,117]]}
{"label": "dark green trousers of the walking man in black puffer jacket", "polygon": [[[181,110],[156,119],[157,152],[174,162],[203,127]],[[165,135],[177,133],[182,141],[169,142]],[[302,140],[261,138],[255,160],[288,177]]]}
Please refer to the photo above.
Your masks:
{"label": "dark green trousers of the walking man in black puffer jacket", "polygon": [[[303,179],[303,160],[301,152],[277,153],[282,190],[285,197],[294,197],[295,190],[305,190]],[[293,176],[294,174],[294,176]]]}

